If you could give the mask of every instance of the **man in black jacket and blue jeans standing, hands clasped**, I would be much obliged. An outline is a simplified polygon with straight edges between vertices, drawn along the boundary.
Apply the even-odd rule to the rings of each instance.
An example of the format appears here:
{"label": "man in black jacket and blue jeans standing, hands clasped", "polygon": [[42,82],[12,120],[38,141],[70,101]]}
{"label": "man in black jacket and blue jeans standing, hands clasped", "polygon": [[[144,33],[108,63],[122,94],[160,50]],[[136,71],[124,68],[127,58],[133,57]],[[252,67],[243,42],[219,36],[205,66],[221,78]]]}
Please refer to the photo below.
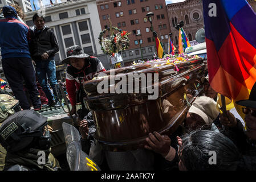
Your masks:
{"label": "man in black jacket and blue jeans standing, hands clasped", "polygon": [[[36,77],[43,88],[48,104],[44,107],[58,107],[60,106],[57,93],[55,90],[56,80],[56,67],[54,55],[59,51],[58,43],[55,38],[54,32],[47,26],[44,26],[45,19],[43,16],[38,16],[36,13],[32,18],[35,26],[30,28],[30,53],[32,60],[36,65]],[[54,94],[52,94],[50,87],[47,84],[47,77]]]}

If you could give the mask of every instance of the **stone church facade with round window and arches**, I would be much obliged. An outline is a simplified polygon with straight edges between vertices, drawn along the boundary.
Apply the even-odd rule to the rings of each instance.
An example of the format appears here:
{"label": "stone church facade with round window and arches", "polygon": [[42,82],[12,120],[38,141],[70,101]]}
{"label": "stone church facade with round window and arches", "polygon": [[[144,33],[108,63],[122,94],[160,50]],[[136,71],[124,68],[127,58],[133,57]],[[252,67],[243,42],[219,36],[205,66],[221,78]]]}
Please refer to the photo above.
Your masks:
{"label": "stone church facade with round window and arches", "polygon": [[[253,10],[256,12],[256,1],[247,0]],[[184,22],[184,31],[189,41],[196,40],[196,32],[204,28],[204,17],[201,0],[186,0],[180,3],[166,5],[169,16],[170,32],[172,32],[172,42],[178,48],[178,30],[175,26],[181,20]]]}

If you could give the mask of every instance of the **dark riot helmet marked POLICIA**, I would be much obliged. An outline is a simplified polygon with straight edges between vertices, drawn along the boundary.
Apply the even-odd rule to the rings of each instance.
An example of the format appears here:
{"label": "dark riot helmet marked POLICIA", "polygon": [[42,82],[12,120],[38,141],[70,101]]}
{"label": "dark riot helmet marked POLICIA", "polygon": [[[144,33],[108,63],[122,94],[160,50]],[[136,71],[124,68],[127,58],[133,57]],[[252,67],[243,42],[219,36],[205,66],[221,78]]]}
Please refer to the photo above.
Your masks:
{"label": "dark riot helmet marked POLICIA", "polygon": [[22,110],[8,117],[0,126],[0,143],[8,152],[25,148],[50,148],[51,135],[47,117],[34,110]]}

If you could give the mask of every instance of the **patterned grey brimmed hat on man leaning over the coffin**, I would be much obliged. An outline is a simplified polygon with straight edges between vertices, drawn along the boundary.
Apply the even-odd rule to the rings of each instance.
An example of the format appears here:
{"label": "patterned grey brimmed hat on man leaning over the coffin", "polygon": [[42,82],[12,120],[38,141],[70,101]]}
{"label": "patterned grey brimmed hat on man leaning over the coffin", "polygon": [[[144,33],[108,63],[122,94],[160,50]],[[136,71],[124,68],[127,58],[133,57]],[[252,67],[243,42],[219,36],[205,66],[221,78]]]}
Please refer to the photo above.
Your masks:
{"label": "patterned grey brimmed hat on man leaning over the coffin", "polygon": [[78,45],[75,45],[67,48],[67,58],[63,59],[62,64],[64,63],[70,64],[69,59],[71,57],[86,58],[86,57],[90,57],[90,55],[83,53],[82,48]]}

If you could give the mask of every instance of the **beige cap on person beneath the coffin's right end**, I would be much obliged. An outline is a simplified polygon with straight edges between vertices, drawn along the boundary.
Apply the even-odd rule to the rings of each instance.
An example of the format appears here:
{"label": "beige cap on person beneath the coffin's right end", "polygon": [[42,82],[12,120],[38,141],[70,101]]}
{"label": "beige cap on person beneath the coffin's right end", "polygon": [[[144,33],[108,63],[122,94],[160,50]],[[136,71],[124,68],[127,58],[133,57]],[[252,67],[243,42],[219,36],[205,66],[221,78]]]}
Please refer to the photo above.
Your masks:
{"label": "beige cap on person beneath the coffin's right end", "polygon": [[216,109],[216,102],[206,96],[198,97],[189,108],[189,113],[200,115],[207,125],[211,125],[220,114]]}

